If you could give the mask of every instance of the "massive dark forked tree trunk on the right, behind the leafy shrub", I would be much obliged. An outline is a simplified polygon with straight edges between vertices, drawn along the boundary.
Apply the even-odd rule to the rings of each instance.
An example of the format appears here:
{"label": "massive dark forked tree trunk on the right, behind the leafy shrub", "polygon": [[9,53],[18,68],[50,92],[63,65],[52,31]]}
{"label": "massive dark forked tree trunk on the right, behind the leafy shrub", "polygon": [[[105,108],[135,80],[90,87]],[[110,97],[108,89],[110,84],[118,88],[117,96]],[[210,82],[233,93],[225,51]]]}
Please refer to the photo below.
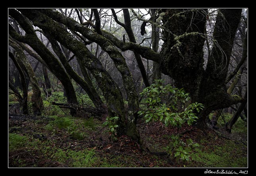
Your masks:
{"label": "massive dark forked tree trunk on the right, behind the leafy shrub", "polygon": [[213,47],[204,70],[206,10],[168,9],[163,14],[161,71],[190,93],[192,101],[204,104],[198,125],[205,127],[209,113],[243,101],[227,93],[225,79],[241,9],[219,10],[213,32]]}

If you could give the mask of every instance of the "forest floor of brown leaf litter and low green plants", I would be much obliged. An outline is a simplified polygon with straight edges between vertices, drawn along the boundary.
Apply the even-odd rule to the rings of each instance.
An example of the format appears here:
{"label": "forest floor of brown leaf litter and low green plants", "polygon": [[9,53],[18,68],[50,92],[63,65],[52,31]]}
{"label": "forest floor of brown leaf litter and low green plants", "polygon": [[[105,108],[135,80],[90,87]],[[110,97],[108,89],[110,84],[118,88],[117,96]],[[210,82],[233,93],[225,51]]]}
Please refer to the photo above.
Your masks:
{"label": "forest floor of brown leaf litter and low green plants", "polygon": [[[232,134],[193,126],[179,130],[182,139],[200,146],[189,161],[173,159],[165,147],[176,129],[159,122],[138,121],[142,145],[127,136],[109,140],[96,118],[19,114],[9,105],[9,167],[247,167],[247,126],[239,119]],[[220,118],[221,119],[221,118]],[[236,124],[235,124],[236,125]]]}

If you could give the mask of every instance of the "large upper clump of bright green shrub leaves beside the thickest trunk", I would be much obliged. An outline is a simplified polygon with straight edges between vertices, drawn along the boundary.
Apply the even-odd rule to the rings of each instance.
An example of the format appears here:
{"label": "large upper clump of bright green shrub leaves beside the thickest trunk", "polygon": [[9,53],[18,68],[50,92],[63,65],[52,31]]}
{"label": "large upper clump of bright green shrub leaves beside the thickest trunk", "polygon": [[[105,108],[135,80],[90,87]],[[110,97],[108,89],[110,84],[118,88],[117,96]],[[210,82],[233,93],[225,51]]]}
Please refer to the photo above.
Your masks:
{"label": "large upper clump of bright green shrub leaves beside the thickest trunk", "polygon": [[144,115],[146,122],[161,121],[165,126],[181,127],[185,122],[191,125],[198,119],[194,111],[199,112],[204,107],[202,103],[189,103],[189,94],[183,89],[162,83],[163,80],[157,80],[140,93],[144,99],[139,115]]}

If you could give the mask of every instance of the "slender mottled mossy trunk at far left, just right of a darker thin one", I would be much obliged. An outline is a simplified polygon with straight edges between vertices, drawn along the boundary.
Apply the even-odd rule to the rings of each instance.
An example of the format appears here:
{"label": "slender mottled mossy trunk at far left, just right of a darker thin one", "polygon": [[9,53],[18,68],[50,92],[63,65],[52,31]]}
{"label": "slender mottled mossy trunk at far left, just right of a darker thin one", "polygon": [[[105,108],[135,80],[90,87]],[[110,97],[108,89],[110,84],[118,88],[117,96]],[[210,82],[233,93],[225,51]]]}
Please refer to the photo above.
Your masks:
{"label": "slender mottled mossy trunk at far left, just right of a darker thin one", "polygon": [[39,84],[37,82],[35,73],[31,67],[26,55],[24,54],[22,48],[12,40],[9,40],[9,45],[12,46],[12,48],[14,48],[14,50],[16,50],[17,59],[19,59],[21,62],[23,62],[23,64],[26,67],[27,73],[29,75],[29,79],[32,84],[32,90],[33,90],[33,95],[31,96],[33,114],[41,115],[41,109],[43,109],[43,100],[41,98],[41,90],[39,88]]}

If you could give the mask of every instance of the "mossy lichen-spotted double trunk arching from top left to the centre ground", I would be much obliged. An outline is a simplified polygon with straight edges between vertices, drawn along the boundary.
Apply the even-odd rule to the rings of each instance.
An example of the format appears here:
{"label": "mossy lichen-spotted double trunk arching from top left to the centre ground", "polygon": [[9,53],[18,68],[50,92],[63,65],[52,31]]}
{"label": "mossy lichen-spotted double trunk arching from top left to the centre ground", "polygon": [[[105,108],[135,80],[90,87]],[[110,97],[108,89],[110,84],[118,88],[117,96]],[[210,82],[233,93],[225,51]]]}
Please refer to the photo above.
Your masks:
{"label": "mossy lichen-spotted double trunk arching from top left to the centre ground", "polygon": [[[52,38],[72,51],[78,59],[82,60],[87,69],[91,71],[97,80],[103,95],[105,96],[107,106],[109,108],[109,116],[120,117],[117,129],[118,135],[127,134],[135,140],[140,140],[140,136],[136,129],[138,97],[134,88],[132,75],[128,69],[128,66],[126,65],[124,57],[122,54],[120,54],[120,52],[118,52],[118,50],[116,50],[112,43],[101,35],[77,23],[73,19],[61,15],[57,11],[50,9],[40,11],[32,9],[21,9],[20,11],[23,13],[23,15],[33,21],[33,25],[40,27],[44,33],[48,33]],[[46,13],[55,21],[63,23],[70,30],[78,31],[89,40],[96,40],[101,48],[103,48],[103,50],[105,50],[110,55],[116,68],[122,75],[124,87],[128,97],[128,111],[124,110],[124,102],[118,86],[104,69],[99,59],[92,55],[83,43],[74,39],[67,31],[63,29],[63,27],[61,27],[58,23],[41,12]]]}

